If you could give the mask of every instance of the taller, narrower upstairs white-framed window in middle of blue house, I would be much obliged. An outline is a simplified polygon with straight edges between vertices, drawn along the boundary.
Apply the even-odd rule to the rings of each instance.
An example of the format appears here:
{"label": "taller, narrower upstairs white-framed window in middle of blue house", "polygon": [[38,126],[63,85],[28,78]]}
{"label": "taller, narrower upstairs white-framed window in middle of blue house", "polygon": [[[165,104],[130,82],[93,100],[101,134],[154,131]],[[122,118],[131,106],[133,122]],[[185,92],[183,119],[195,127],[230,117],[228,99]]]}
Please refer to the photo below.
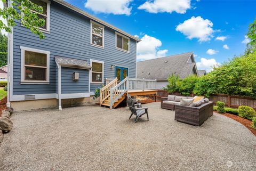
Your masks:
{"label": "taller, narrower upstairs white-framed window in middle of blue house", "polygon": [[104,26],[91,21],[91,45],[104,47]]}

